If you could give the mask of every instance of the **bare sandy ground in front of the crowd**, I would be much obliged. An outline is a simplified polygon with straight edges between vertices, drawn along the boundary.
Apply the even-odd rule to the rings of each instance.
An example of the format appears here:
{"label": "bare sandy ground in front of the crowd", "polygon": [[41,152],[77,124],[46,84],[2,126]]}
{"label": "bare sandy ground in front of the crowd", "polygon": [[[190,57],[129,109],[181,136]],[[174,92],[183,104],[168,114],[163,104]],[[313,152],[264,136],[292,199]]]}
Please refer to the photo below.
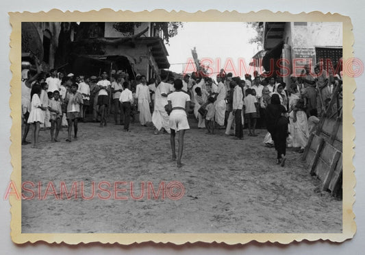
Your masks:
{"label": "bare sandy ground in front of the crowd", "polygon": [[[198,130],[190,120],[186,132],[181,169],[170,160],[167,134],[153,135],[152,127],[79,123],[79,138],[66,143],[66,129],[60,143],[50,143],[49,130],[40,132],[41,149],[22,146],[22,181],[34,182],[34,199],[22,201],[22,232],[341,232],[342,201],[320,192],[320,183],[310,176],[300,154],[288,151],[286,167],[275,165],[275,149],[262,144],[265,130],[258,137],[234,141],[218,130],[214,136]],[[28,140],[32,138],[31,131]],[[60,181],[68,191],[77,182],[77,199],[42,196],[49,182],[55,184],[60,198]],[[81,182],[85,195],[81,198]],[[102,181],[128,182],[118,193],[127,200],[99,199]],[[177,181],[184,185],[184,197],[148,199],[147,182],[155,191],[161,182]],[[129,184],[134,183],[132,199]],[[30,186],[27,186],[30,188]],[[104,188],[108,188],[103,186]],[[113,191],[114,188],[110,187]],[[51,189],[49,191],[52,191]],[[24,193],[27,197],[29,192]]]}

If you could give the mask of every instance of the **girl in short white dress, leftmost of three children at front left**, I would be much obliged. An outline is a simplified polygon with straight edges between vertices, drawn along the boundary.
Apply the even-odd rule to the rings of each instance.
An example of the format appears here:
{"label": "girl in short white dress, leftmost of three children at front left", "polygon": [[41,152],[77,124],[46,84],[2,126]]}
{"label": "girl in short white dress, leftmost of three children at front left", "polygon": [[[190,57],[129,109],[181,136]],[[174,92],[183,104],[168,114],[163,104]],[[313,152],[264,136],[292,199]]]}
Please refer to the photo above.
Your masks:
{"label": "girl in short white dress, leftmost of three children at front left", "polygon": [[39,136],[39,130],[40,130],[40,124],[44,123],[45,117],[43,116],[43,111],[46,109],[42,106],[40,102],[40,86],[33,86],[31,97],[32,97],[32,103],[31,103],[31,110],[29,112],[29,118],[27,123],[34,124],[34,132],[33,132],[33,146],[34,148],[38,147],[38,136]]}

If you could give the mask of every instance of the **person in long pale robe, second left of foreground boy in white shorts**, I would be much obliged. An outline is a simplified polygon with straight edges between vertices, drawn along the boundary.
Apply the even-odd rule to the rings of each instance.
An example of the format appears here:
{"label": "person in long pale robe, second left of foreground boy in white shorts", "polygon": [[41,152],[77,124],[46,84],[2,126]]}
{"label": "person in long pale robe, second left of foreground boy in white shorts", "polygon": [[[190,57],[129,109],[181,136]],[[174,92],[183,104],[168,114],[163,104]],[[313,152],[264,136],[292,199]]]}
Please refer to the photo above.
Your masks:
{"label": "person in long pale robe, second left of foreground boy in white shorts", "polygon": [[151,97],[149,95],[149,86],[147,86],[146,76],[140,77],[141,83],[136,86],[136,99],[138,99],[138,111],[140,112],[140,125],[147,126],[152,121],[149,104]]}

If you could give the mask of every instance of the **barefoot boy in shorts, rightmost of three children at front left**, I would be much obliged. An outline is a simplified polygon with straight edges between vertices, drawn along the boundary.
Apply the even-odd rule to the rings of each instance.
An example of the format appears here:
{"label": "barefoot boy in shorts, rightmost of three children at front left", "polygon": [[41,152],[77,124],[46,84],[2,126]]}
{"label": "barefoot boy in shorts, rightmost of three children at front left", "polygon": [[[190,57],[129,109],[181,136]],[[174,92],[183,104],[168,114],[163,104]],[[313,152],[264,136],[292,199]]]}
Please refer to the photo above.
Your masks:
{"label": "barefoot boy in shorts, rightmost of three children at front left", "polygon": [[67,121],[68,121],[68,138],[66,142],[71,142],[72,124],[74,127],[74,138],[77,139],[77,118],[79,117],[80,104],[82,104],[82,95],[77,92],[77,84],[71,85],[70,93],[67,93]]}

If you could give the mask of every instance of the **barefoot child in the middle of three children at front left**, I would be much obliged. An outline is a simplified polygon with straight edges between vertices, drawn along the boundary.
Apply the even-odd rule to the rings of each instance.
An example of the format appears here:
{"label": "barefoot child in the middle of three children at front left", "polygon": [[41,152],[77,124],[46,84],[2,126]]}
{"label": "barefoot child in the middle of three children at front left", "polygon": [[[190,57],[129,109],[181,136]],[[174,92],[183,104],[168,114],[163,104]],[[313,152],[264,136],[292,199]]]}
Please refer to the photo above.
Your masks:
{"label": "barefoot child in the middle of three children at front left", "polygon": [[[50,112],[50,121],[51,121],[51,142],[59,142],[58,141],[58,133],[61,128],[62,121],[62,107],[60,101],[60,91],[55,90],[53,92],[53,99],[49,101],[48,110]],[[53,132],[55,130],[55,134],[53,136]]]}

